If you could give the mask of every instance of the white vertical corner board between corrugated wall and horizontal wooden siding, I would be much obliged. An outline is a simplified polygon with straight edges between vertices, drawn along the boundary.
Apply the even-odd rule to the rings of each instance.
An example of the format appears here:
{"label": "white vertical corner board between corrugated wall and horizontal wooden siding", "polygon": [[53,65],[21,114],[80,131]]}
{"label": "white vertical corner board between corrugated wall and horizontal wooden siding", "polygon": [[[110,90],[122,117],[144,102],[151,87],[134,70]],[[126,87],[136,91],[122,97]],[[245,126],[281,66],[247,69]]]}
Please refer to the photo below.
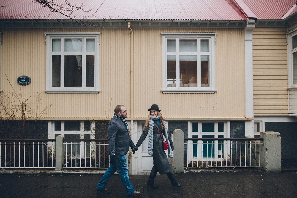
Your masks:
{"label": "white vertical corner board between corrugated wall and horizontal wooden siding", "polygon": [[253,30],[257,18],[249,18],[244,29],[245,51],[245,117],[252,119],[246,121],[245,136],[254,135],[254,93],[253,93]]}

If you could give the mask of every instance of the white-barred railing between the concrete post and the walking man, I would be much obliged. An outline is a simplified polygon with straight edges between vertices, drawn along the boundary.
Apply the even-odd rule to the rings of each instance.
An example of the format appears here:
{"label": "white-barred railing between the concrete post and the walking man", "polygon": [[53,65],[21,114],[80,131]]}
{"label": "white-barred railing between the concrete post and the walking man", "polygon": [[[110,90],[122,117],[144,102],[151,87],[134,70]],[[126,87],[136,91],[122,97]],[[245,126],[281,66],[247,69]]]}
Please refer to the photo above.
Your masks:
{"label": "white-barred railing between the concrete post and the walking man", "polygon": [[109,167],[107,140],[63,140],[63,168],[102,168]]}

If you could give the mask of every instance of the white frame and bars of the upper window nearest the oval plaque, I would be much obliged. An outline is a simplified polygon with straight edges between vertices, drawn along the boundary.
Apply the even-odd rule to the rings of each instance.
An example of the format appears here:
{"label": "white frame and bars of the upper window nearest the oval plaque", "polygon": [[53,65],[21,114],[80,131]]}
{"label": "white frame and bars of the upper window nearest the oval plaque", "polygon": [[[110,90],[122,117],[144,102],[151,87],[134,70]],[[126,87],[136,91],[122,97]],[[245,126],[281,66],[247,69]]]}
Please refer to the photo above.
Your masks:
{"label": "white frame and bars of the upper window nearest the oval plaque", "polygon": [[[56,93],[88,93],[88,94],[97,94],[100,92],[99,90],[99,35],[100,32],[83,32],[83,33],[45,33],[46,37],[46,90],[45,92],[48,94],[56,94]],[[78,53],[73,52],[63,52],[64,45],[61,41],[61,86],[53,87],[52,86],[52,39],[60,38],[64,40],[65,38],[82,38],[83,43],[87,38],[95,39],[95,52],[86,52],[85,46],[83,45],[83,51]],[[54,53],[58,54],[58,53]],[[95,55],[95,65],[94,65],[94,87],[86,87],[82,84],[81,87],[64,87],[64,63],[63,63],[63,55]],[[63,63],[63,64],[62,64]],[[82,69],[82,73],[84,74],[85,68]],[[85,75],[82,74],[82,82],[85,82]]]}

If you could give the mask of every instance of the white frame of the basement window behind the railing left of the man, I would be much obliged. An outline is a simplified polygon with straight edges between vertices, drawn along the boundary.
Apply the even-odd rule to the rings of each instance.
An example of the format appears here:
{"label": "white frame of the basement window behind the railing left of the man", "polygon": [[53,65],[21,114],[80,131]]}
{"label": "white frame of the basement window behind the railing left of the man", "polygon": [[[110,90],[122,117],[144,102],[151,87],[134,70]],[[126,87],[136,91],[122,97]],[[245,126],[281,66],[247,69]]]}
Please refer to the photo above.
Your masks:
{"label": "white frame of the basement window behind the railing left of the man", "polygon": [[[84,130],[84,121],[80,121],[80,130],[74,131],[74,130],[65,130],[65,121],[60,121],[61,122],[61,130],[60,131],[55,131],[55,121],[50,121],[48,122],[48,139],[55,139],[55,135],[80,135],[80,139],[84,139],[85,135],[90,135],[90,139],[95,139],[95,122],[91,122],[90,126],[90,131],[85,131]],[[80,140],[78,140],[80,141]],[[89,142],[86,142],[89,144]],[[93,145],[90,145],[93,146]],[[54,149],[54,148],[53,148]],[[93,155],[93,153],[91,154]],[[80,142],[80,156],[79,158],[85,158],[85,142]]]}

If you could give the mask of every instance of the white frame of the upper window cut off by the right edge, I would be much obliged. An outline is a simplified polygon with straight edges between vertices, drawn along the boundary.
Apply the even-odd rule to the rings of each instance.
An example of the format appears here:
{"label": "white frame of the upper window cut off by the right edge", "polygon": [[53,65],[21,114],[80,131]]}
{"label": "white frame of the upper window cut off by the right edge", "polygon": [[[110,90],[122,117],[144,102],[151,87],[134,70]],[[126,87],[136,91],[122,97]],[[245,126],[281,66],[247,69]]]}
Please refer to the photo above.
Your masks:
{"label": "white frame of the upper window cut off by the right edge", "polygon": [[293,83],[293,53],[297,52],[297,47],[293,49],[293,36],[297,35],[297,31],[287,35],[288,42],[288,88],[297,88],[297,83]]}

